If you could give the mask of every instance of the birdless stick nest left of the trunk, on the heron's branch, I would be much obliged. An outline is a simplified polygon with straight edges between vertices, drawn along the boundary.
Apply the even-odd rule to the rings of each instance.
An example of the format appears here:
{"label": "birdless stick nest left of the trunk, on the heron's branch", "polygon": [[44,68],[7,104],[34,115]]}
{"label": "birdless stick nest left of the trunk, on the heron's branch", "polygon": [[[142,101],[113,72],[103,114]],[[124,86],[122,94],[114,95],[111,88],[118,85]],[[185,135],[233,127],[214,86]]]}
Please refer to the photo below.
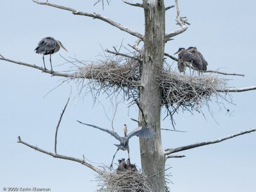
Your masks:
{"label": "birdless stick nest left of the trunk, on the heron's branch", "polygon": [[138,96],[136,83],[140,81],[140,62],[127,58],[109,58],[106,61],[83,63],[75,78],[88,79],[89,84],[83,84],[81,89],[90,85],[90,91],[95,96],[101,91],[107,94],[123,92],[124,97],[129,99]]}

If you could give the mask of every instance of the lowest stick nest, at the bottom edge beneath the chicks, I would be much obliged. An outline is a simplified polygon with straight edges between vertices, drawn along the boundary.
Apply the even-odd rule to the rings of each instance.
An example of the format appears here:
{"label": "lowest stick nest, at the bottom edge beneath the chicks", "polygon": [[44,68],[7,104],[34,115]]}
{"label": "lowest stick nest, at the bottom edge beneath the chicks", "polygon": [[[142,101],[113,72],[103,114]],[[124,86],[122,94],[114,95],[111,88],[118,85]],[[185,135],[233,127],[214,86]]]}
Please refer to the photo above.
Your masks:
{"label": "lowest stick nest, at the bottom edge beneath the chicks", "polygon": [[97,191],[100,192],[153,192],[147,182],[147,175],[142,172],[104,172],[97,175],[96,179],[99,181]]}

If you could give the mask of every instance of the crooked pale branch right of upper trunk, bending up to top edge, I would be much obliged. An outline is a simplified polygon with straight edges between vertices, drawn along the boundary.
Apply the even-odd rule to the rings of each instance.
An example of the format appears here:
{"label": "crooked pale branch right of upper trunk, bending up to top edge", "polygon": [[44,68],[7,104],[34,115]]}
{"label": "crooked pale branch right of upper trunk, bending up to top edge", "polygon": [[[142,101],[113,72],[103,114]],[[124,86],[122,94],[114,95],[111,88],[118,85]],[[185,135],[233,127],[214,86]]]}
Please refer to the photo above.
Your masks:
{"label": "crooked pale branch right of upper trunk, bending up to top edge", "polygon": [[188,27],[186,26],[186,23],[188,24],[188,22],[186,22],[186,20],[182,20],[182,18],[180,17],[180,10],[179,10],[179,2],[178,0],[175,0],[175,6],[176,6],[176,10],[177,10],[177,17],[176,20],[180,26],[179,29],[172,31],[171,33],[168,33],[165,35],[165,40],[166,42],[168,42],[169,40],[171,40],[171,38],[173,36],[179,35],[180,33],[183,33],[184,31],[186,31],[188,29]]}

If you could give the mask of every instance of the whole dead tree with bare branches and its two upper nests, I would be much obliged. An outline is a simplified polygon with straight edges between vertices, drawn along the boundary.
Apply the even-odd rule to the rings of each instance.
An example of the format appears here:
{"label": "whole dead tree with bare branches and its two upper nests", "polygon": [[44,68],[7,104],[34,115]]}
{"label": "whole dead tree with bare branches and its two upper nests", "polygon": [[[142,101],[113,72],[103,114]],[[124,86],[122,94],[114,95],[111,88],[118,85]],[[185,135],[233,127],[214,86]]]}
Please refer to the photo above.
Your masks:
{"label": "whole dead tree with bare branches and its two upper nests", "polygon": [[[218,94],[223,92],[244,92],[248,90],[256,90],[256,86],[251,86],[248,88],[228,88],[225,81],[221,81],[221,79],[215,78],[214,76],[182,76],[170,69],[164,68],[164,56],[168,56],[172,58],[172,60],[177,60],[177,58],[164,53],[164,45],[168,41],[172,40],[173,36],[179,35],[188,29],[188,21],[180,17],[178,0],[175,0],[175,8],[177,11],[176,20],[177,24],[179,24],[179,29],[168,33],[165,31],[165,12],[166,10],[170,9],[171,6],[166,7],[163,0],[143,0],[143,3],[129,3],[124,1],[126,4],[137,6],[138,8],[142,8],[144,10],[145,34],[141,34],[132,29],[126,28],[118,22],[97,13],[81,12],[73,8],[52,4],[48,1],[41,2],[33,0],[33,2],[45,6],[52,6],[61,10],[67,10],[67,12],[71,12],[74,15],[82,15],[85,17],[92,17],[93,19],[102,20],[108,24],[111,24],[115,28],[125,31],[126,33],[138,38],[135,45],[130,45],[132,49],[135,50],[134,54],[122,53],[116,50],[115,47],[113,51],[106,50],[111,54],[123,58],[122,61],[107,60],[100,63],[92,62],[90,65],[78,68],[77,72],[70,74],[44,70],[44,68],[36,65],[4,58],[4,56],[1,54],[0,60],[16,63],[18,65],[24,65],[26,67],[36,68],[44,71],[45,73],[51,74],[52,76],[67,77],[68,80],[89,79],[89,81],[99,83],[101,87],[100,89],[108,90],[109,92],[111,92],[111,88],[113,87],[123,90],[125,97],[132,99],[132,102],[134,102],[134,104],[136,104],[140,109],[140,114],[138,117],[139,126],[147,125],[155,132],[154,138],[140,139],[141,166],[143,169],[143,174],[145,173],[145,175],[148,176],[148,184],[150,184],[152,191],[164,191],[165,189],[164,164],[166,159],[171,157],[184,157],[170,156],[170,154],[203,145],[218,143],[241,134],[256,131],[256,129],[250,129],[248,131],[239,132],[219,140],[206,141],[203,143],[195,143],[184,147],[169,148],[164,150],[161,141],[161,108],[166,107],[166,109],[168,109],[168,115],[172,116],[177,108],[187,108],[188,106],[195,109],[200,108],[204,102],[211,100],[211,97],[214,94],[216,94],[218,97]],[[104,0],[98,1],[97,3],[99,2],[102,2],[102,5],[104,4]],[[142,48],[138,46],[140,42],[143,42]],[[126,59],[124,60],[124,58]],[[223,72],[217,73],[223,75],[243,76],[241,74],[227,74]],[[200,84],[202,82],[203,84]],[[41,148],[22,141],[20,137],[18,142],[49,156],[84,164],[85,166],[88,166],[95,172],[99,173],[99,175],[104,175],[104,177],[106,175],[108,176],[109,174],[103,170],[100,170],[99,168],[96,168],[95,166],[92,166],[92,164],[86,163],[84,159],[61,156],[57,154],[56,149],[55,153],[47,152]]]}

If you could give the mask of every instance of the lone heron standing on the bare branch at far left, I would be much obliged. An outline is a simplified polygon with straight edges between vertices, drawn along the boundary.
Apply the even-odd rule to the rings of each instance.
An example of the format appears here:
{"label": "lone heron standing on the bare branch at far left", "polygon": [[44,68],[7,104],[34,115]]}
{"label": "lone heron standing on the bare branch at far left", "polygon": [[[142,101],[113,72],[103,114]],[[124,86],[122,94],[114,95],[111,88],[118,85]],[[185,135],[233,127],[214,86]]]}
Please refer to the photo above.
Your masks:
{"label": "lone heron standing on the bare branch at far left", "polygon": [[[40,40],[40,42],[38,43],[35,51],[38,54],[43,54],[43,61],[44,61],[44,55],[45,54],[50,54],[50,63],[51,63],[51,71],[52,70],[52,60],[51,60],[51,55],[54,54],[54,52],[58,52],[60,50],[60,47],[62,47],[65,51],[67,51],[67,49],[61,44],[60,41],[55,40],[54,38],[52,38],[51,36],[47,36],[45,38],[43,38],[42,40]],[[44,63],[44,69],[45,68],[45,63]]]}

